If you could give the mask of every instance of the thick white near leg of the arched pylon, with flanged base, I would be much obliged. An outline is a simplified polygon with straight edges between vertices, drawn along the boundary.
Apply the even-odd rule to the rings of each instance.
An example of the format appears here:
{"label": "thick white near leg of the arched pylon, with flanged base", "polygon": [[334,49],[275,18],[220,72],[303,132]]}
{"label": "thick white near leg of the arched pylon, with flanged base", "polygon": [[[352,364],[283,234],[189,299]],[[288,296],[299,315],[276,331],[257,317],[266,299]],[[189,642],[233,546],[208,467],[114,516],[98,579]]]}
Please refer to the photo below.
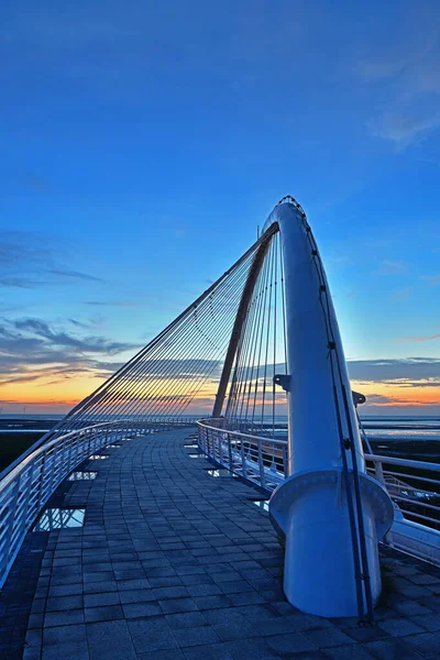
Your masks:
{"label": "thick white near leg of the arched pylon, with flanged base", "polygon": [[373,617],[381,593],[377,543],[393,505],[366,474],[338,322],[300,207],[280,204],[286,287],[289,476],[270,513],[286,537],[284,590],[299,609]]}

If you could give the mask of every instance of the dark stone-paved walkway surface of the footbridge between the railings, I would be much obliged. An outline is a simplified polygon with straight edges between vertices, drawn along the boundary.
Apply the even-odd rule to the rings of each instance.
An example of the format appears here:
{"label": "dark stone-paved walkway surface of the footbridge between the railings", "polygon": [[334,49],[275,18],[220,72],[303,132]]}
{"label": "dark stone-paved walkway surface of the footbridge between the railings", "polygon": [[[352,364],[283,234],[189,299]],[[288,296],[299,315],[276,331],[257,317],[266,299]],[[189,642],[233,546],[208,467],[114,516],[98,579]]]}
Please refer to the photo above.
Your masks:
{"label": "dark stone-paved walkway surface of the footbridge between the railings", "polygon": [[22,657],[24,634],[25,660],[438,657],[439,570],[383,557],[372,628],[298,612],[258,493],[209,476],[187,435],[123,442],[86,463],[95,481],[58,488],[85,526],[28,535],[3,590],[2,658]]}

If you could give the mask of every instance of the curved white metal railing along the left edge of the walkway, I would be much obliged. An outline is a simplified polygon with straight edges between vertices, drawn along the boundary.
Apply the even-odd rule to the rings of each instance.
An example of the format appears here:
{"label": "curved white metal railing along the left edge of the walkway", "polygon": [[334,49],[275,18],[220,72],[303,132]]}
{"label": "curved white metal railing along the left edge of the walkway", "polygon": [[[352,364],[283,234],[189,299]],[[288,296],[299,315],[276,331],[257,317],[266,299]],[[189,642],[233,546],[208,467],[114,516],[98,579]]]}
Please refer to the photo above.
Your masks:
{"label": "curved white metal railing along the left edge of the walkway", "polygon": [[[190,422],[180,419],[177,424],[187,426]],[[176,422],[164,420],[100,422],[65,432],[31,453],[23,454],[0,481],[0,586],[25,534],[55,488],[75,468],[96,451],[119,439],[174,426]]]}

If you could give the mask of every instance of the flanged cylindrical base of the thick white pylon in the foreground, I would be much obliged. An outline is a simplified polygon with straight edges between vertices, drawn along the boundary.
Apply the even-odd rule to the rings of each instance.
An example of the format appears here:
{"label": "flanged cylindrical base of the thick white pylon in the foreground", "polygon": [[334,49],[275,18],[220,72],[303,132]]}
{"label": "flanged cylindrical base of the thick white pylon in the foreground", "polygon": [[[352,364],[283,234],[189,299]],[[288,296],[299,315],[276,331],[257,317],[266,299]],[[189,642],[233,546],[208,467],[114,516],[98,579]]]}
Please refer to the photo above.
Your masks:
{"label": "flanged cylindrical base of the thick white pylon in the foreground", "polygon": [[[360,475],[373,600],[381,595],[377,543],[393,521],[382,486]],[[330,504],[329,504],[330,503]],[[272,495],[270,513],[286,536],[284,591],[302,612],[326,617],[356,616],[356,583],[342,472],[292,476]],[[366,604],[364,603],[366,609]]]}

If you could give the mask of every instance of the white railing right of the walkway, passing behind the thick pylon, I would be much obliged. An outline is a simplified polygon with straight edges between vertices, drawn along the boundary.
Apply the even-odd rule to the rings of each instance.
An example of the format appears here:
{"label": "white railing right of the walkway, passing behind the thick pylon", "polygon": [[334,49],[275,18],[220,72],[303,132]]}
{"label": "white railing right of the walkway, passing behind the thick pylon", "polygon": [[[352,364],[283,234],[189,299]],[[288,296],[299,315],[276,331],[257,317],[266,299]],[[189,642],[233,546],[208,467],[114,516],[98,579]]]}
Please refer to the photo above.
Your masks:
{"label": "white railing right of the walkway, passing behind the thick pylon", "polygon": [[[287,473],[287,442],[228,430],[223,419],[198,422],[209,458],[272,492]],[[440,464],[365,454],[367,472],[385,486],[395,521],[385,542],[440,565]]]}

